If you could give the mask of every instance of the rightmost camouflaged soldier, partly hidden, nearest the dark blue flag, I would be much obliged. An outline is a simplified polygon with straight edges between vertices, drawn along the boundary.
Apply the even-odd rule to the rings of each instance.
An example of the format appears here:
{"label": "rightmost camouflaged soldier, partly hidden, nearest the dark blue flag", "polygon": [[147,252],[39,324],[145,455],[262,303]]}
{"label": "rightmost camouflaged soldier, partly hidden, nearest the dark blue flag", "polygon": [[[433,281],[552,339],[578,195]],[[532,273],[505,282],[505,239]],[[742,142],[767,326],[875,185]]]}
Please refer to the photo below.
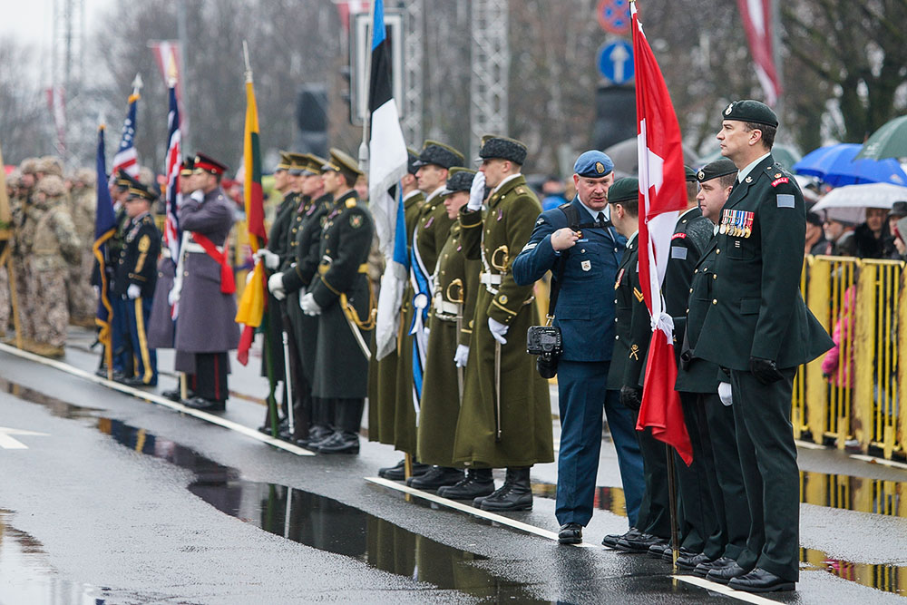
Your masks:
{"label": "rightmost camouflaged soldier, partly hidden, nearest the dark blue flag", "polygon": [[94,214],[96,194],[94,190],[97,176],[91,169],[82,168],[73,176],[73,189],[70,190],[69,210],[73,216],[75,234],[79,239],[82,258],[78,265],[70,269],[67,282],[69,297],[70,321],[76,326],[94,327],[95,303],[97,298],[92,289],[92,269],[94,267]]}

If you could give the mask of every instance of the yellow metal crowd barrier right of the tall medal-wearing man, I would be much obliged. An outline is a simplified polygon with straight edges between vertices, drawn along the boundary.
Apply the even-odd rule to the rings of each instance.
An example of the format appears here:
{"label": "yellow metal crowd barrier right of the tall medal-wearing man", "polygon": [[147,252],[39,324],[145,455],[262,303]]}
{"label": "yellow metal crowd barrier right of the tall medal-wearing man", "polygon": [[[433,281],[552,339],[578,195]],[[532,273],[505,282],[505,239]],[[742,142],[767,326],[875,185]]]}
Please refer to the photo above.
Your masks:
{"label": "yellow metal crowd barrier right of the tall medal-wearing man", "polygon": [[[801,366],[794,385],[792,421],[799,438],[826,438],[844,449],[882,449],[886,458],[904,453],[907,366],[898,351],[907,346],[904,263],[843,257],[808,257],[801,281],[807,306],[837,344],[837,366],[823,376],[819,357]],[[907,350],[907,349],[904,349]],[[827,369],[827,368],[826,368]],[[853,441],[852,441],[853,440]]]}

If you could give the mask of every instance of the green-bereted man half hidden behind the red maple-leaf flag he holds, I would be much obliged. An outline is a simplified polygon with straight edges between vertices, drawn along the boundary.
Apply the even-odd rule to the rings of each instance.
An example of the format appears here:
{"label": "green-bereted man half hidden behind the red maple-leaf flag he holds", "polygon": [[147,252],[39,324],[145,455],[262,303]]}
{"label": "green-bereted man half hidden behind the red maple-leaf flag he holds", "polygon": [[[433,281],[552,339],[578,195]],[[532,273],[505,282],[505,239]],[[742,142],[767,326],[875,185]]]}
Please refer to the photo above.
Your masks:
{"label": "green-bereted man half hidden behind the red maple-leaf flag he holds", "polygon": [[[627,249],[620,259],[614,283],[614,351],[608,369],[608,388],[620,392],[620,403],[639,415],[642,388],[639,376],[645,366],[652,329],[649,308],[639,286],[639,180],[627,177],[614,181],[608,190],[611,222],[627,238]],[[639,504],[637,527],[631,528],[615,543],[621,551],[645,552],[663,545],[670,535],[668,508],[668,468],[665,444],[651,431],[637,431],[642,454],[645,491]],[[602,542],[610,545],[610,541]]]}

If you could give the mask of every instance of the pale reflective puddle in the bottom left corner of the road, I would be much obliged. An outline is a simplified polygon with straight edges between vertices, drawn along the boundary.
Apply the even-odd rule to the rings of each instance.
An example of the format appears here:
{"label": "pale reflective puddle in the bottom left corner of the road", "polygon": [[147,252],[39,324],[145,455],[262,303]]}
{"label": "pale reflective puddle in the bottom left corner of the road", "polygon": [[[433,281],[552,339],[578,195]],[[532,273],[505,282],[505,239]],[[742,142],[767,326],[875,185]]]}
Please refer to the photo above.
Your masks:
{"label": "pale reflective puddle in the bottom left corner of the road", "polygon": [[12,512],[0,511],[0,602],[102,605],[100,590],[57,577],[41,542],[11,526]]}

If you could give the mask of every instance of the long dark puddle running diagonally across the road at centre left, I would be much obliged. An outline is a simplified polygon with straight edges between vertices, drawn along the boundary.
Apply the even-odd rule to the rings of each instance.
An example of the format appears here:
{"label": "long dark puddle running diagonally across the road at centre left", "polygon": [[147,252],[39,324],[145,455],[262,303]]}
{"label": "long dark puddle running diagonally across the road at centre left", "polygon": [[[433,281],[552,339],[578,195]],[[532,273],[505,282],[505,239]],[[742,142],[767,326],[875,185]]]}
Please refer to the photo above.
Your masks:
{"label": "long dark puddle running diagonally across the road at centre left", "polygon": [[241,480],[235,468],[119,420],[101,418],[98,429],[130,449],[195,473],[191,493],[266,532],[482,600],[534,601],[529,585],[506,581],[473,565],[487,560],[482,555],[435,542],[332,498]]}

